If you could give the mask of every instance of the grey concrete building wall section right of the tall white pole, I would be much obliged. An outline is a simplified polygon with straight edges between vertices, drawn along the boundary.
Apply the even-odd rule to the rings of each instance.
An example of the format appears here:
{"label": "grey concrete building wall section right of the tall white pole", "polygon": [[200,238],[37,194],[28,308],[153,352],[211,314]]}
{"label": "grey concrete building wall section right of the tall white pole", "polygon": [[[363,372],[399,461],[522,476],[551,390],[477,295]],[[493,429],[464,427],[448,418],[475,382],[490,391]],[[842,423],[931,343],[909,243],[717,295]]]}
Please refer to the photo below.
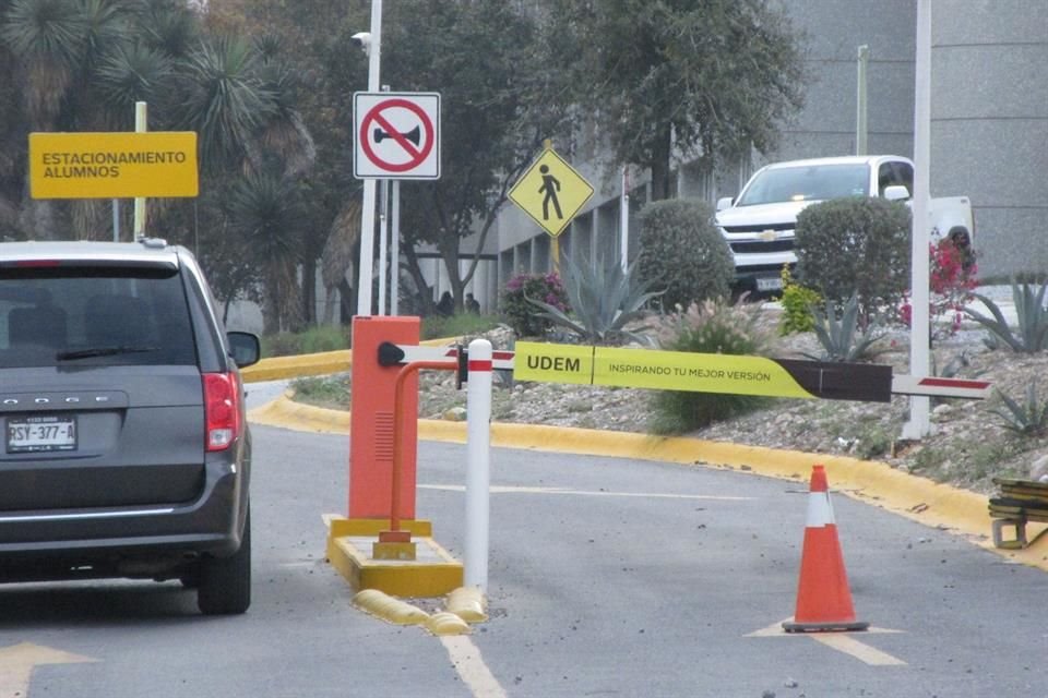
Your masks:
{"label": "grey concrete building wall section right of the tall white pole", "polygon": [[932,194],[968,194],[979,275],[1048,272],[1048,0],[932,4]]}

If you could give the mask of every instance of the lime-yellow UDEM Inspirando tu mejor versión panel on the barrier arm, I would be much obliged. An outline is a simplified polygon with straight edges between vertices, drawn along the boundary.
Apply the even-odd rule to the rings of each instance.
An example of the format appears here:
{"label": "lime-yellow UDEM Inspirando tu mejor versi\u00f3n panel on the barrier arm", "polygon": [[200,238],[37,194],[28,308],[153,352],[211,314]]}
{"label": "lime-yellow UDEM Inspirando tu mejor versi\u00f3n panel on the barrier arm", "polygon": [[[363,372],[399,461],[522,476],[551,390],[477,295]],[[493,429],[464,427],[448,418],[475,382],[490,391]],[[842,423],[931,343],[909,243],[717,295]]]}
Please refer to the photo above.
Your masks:
{"label": "lime-yellow UDEM Inspirando tu mejor versi\u00f3n panel on the barrier arm", "polygon": [[516,342],[515,351],[513,377],[517,381],[817,397],[783,365],[764,357],[526,341]]}

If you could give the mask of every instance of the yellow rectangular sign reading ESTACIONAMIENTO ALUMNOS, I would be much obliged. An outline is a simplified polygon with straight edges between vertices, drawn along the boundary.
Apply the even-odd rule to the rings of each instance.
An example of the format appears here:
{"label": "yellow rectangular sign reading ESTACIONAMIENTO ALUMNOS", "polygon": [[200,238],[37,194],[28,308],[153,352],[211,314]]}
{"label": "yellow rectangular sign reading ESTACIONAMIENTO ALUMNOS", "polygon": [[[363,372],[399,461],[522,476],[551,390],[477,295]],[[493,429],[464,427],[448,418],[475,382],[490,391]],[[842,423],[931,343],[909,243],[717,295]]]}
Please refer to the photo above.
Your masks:
{"label": "yellow rectangular sign reading ESTACIONAMIENTO ALUMNOS", "polygon": [[33,198],[195,196],[196,134],[31,133]]}

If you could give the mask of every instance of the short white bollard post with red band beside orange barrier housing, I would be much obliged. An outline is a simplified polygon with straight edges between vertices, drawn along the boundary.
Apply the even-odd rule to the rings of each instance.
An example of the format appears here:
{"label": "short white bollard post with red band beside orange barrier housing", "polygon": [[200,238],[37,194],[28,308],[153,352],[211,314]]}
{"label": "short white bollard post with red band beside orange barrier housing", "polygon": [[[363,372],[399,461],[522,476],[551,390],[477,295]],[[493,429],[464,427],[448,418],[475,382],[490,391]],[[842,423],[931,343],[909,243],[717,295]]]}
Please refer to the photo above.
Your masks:
{"label": "short white bollard post with red band beside orange barrier housing", "polygon": [[469,342],[466,381],[466,587],[488,589],[491,486],[491,342]]}

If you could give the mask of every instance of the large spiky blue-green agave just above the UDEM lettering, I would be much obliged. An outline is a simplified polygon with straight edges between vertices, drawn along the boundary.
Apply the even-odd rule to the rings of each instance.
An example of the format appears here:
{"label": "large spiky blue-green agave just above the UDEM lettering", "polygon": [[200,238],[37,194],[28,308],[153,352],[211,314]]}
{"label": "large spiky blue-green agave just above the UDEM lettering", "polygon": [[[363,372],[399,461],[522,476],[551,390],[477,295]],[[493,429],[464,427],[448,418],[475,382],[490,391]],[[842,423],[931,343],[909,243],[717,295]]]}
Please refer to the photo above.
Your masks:
{"label": "large spiky blue-green agave just above the UDEM lettering", "polygon": [[618,264],[611,266],[576,265],[570,257],[561,262],[564,285],[572,314],[528,298],[527,302],[541,309],[538,313],[559,327],[563,327],[587,344],[611,344],[627,338],[641,344],[651,340],[626,325],[641,316],[644,304],[663,291],[652,291],[651,281],[636,281],[633,272],[638,261],[623,270]]}

